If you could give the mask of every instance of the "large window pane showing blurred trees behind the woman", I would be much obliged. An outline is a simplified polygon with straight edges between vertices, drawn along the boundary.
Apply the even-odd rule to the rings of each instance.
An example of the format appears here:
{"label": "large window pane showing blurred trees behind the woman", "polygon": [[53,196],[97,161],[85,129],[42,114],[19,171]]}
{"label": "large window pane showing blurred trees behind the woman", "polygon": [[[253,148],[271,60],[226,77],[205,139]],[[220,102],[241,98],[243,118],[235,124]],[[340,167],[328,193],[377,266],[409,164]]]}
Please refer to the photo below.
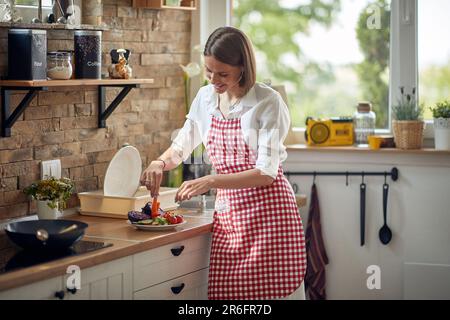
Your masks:
{"label": "large window pane showing blurred trees behind the woman", "polygon": [[390,0],[235,0],[233,14],[255,46],[258,81],[285,85],[293,127],[351,116],[361,100],[389,127]]}

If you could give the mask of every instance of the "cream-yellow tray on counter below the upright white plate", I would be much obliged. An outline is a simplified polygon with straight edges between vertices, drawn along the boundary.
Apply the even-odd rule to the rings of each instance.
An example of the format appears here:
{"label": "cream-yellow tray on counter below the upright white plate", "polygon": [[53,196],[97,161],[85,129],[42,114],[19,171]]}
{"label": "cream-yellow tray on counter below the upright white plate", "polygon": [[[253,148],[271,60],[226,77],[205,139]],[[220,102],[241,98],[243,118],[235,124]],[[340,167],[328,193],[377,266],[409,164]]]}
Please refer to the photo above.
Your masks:
{"label": "cream-yellow tray on counter below the upright white plate", "polygon": [[[178,207],[175,195],[178,188],[161,187],[158,201],[164,211]],[[110,218],[128,219],[131,210],[141,211],[150,199],[150,192],[145,187],[139,187],[133,197],[105,196],[103,190],[78,193],[80,199],[80,214]]]}

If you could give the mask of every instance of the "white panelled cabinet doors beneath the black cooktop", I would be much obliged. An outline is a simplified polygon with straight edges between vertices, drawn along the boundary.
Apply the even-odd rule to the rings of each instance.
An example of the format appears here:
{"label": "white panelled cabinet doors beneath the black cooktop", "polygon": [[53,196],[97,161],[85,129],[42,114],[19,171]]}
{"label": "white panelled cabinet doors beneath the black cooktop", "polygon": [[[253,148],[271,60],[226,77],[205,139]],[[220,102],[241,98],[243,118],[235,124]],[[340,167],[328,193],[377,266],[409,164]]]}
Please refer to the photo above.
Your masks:
{"label": "white panelled cabinet doors beneath the black cooktop", "polygon": [[67,278],[59,276],[1,291],[0,300],[102,300],[132,299],[132,257],[80,270],[80,289],[68,290]]}

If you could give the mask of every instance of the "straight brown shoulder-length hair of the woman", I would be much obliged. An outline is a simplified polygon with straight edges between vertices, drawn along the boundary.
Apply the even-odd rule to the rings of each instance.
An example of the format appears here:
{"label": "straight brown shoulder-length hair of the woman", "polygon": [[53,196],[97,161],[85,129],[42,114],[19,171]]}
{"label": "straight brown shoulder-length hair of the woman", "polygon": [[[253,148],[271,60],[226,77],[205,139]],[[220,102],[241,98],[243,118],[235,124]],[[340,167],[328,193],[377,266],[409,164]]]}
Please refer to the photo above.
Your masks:
{"label": "straight brown shoulder-length hair of the woman", "polygon": [[256,82],[255,54],[250,39],[239,29],[220,27],[214,30],[206,41],[205,56],[213,56],[222,63],[242,67],[239,86],[244,95]]}

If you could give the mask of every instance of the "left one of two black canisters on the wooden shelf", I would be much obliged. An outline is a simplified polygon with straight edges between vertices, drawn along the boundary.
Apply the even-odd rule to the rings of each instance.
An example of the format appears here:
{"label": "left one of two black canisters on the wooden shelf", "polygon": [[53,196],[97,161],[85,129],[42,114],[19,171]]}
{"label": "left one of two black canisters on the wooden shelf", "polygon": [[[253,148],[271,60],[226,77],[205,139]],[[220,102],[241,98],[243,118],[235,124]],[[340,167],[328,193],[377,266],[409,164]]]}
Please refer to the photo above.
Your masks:
{"label": "left one of two black canisters on the wooden shelf", "polygon": [[9,29],[8,79],[47,79],[47,31]]}

